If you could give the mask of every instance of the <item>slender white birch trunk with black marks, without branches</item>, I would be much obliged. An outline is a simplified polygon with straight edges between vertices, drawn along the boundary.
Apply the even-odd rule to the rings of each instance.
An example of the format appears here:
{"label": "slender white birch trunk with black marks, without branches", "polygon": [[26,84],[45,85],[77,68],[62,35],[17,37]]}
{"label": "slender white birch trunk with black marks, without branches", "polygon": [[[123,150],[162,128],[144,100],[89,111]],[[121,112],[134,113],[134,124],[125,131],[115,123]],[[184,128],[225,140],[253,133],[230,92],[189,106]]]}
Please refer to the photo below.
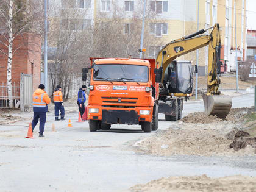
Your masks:
{"label": "slender white birch trunk with black marks, without branches", "polygon": [[8,20],[8,63],[7,63],[7,91],[9,99],[9,107],[12,107],[12,43],[13,43],[13,32],[12,32],[12,21],[13,21],[13,0],[10,0],[9,4],[9,20]]}

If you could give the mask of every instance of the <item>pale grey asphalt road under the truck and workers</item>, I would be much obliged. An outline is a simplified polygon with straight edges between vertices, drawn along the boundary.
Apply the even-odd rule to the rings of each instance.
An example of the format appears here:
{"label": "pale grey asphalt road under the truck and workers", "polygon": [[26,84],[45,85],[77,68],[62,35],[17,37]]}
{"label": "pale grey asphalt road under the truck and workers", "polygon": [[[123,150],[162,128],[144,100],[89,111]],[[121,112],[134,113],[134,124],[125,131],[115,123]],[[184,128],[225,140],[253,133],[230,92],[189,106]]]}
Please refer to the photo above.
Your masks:
{"label": "pale grey asphalt road under the truck and workers", "polygon": [[[254,96],[246,94],[232,101],[235,108],[251,107]],[[186,102],[183,114],[202,110],[202,101]],[[130,144],[155,132],[123,125],[90,132],[87,122],[76,122],[77,113],[67,116],[73,127],[67,127],[68,121],[55,123],[54,115],[48,115],[45,138],[35,133],[35,139],[25,139],[25,120],[0,126],[0,191],[123,191],[168,176],[256,176],[256,157],[136,154]],[[52,123],[57,132],[51,132]],[[175,124],[159,121],[158,132]]]}

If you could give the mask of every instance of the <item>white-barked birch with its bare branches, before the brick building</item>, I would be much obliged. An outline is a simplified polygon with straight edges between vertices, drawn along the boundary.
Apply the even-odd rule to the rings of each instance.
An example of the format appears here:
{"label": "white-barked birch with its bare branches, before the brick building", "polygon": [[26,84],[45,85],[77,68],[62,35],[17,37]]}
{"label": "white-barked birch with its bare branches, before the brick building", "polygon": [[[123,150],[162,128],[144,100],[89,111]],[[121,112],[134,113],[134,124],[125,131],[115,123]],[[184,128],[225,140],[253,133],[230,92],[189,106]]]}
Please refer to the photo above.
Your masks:
{"label": "white-barked birch with its bare branches, before the brick building", "polygon": [[7,59],[7,92],[9,99],[9,107],[13,106],[12,97],[12,59],[13,54],[23,46],[20,44],[13,49],[13,40],[17,35],[24,32],[39,32],[40,15],[42,10],[38,7],[38,2],[34,0],[1,0],[0,4],[0,21],[2,23],[2,37],[0,43],[7,48],[7,52],[0,49]]}

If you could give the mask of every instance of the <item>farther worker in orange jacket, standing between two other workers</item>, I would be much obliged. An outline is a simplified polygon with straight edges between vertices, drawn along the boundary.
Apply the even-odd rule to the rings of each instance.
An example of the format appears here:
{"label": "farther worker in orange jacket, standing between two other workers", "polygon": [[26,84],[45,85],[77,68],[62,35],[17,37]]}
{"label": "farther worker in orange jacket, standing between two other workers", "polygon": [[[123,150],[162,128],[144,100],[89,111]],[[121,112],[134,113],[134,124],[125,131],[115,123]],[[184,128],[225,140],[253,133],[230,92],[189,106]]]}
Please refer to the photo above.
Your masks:
{"label": "farther worker in orange jacket, standing between two other workers", "polygon": [[[53,93],[54,98],[54,110],[55,110],[55,121],[65,120],[65,109],[63,105],[62,98],[62,87],[57,85]],[[60,111],[60,119],[59,119],[59,111]]]}

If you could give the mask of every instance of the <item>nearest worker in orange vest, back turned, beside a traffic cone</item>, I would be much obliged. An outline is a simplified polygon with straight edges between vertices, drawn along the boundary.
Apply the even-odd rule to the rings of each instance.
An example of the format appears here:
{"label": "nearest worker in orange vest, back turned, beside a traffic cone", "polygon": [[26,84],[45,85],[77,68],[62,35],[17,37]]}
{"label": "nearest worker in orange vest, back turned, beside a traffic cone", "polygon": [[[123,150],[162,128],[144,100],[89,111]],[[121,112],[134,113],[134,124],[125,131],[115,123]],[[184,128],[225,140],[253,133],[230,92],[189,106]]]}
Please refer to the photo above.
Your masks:
{"label": "nearest worker in orange vest, back turned, beside a traffic cone", "polygon": [[46,112],[48,111],[48,104],[51,102],[48,94],[44,91],[44,85],[40,84],[38,89],[33,93],[33,112],[34,117],[32,121],[32,130],[37,126],[38,119],[40,119],[39,125],[39,137],[44,137],[44,124],[46,121]]}

